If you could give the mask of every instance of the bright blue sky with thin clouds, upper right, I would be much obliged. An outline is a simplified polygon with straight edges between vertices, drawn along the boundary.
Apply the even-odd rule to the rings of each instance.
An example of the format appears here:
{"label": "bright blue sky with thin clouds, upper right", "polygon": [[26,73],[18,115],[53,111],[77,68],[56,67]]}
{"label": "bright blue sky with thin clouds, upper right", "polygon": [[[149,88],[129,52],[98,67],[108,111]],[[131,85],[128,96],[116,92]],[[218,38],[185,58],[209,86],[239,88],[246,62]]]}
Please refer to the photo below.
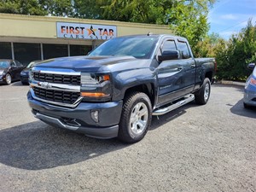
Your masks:
{"label": "bright blue sky with thin clouds, upper right", "polygon": [[232,34],[247,26],[252,18],[256,24],[256,0],[217,0],[210,9],[208,23],[209,34],[217,32],[222,38],[229,39]]}

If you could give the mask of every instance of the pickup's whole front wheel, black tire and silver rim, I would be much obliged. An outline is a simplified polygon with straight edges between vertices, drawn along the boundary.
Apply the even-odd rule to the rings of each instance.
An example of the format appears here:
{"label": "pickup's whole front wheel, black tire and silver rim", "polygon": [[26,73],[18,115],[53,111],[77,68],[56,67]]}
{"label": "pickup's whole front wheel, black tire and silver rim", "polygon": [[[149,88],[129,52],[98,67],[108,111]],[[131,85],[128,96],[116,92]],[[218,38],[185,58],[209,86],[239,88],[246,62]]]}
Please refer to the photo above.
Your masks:
{"label": "pickup's whole front wheel, black tire and silver rim", "polygon": [[120,141],[137,143],[143,139],[151,125],[152,105],[143,92],[133,92],[125,97],[119,123]]}

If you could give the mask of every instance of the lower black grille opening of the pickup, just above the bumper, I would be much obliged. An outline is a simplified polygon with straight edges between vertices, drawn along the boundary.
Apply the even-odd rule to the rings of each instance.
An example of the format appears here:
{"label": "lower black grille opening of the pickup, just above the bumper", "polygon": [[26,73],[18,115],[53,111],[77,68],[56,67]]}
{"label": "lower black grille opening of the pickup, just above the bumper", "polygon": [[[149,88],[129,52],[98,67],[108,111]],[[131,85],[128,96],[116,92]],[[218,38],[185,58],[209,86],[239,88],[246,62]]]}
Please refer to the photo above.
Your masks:
{"label": "lower black grille opening of the pickup, just above the bumper", "polygon": [[33,87],[34,93],[38,98],[51,101],[73,104],[79,99],[79,92],[70,92],[62,90],[45,90],[39,87]]}

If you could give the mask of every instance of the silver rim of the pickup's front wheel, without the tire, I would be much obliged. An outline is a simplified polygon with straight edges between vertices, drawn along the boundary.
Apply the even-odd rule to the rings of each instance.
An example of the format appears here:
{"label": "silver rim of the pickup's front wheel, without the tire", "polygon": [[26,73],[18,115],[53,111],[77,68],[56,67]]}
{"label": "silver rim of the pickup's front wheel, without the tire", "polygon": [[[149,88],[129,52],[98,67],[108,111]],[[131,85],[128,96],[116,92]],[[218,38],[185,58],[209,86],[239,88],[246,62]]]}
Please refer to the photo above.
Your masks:
{"label": "silver rim of the pickup's front wheel, without the tire", "polygon": [[148,108],[143,102],[138,102],[131,110],[130,128],[131,131],[139,135],[146,129],[148,123]]}

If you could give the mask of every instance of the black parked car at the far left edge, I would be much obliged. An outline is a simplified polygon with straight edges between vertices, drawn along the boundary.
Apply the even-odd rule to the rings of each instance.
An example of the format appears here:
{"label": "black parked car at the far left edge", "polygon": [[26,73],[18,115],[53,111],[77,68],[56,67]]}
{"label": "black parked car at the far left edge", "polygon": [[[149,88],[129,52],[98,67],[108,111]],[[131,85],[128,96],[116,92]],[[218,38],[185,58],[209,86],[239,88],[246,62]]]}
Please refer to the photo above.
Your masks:
{"label": "black parked car at the far left edge", "polygon": [[0,60],[0,83],[11,84],[15,80],[20,80],[23,68],[19,61]]}

